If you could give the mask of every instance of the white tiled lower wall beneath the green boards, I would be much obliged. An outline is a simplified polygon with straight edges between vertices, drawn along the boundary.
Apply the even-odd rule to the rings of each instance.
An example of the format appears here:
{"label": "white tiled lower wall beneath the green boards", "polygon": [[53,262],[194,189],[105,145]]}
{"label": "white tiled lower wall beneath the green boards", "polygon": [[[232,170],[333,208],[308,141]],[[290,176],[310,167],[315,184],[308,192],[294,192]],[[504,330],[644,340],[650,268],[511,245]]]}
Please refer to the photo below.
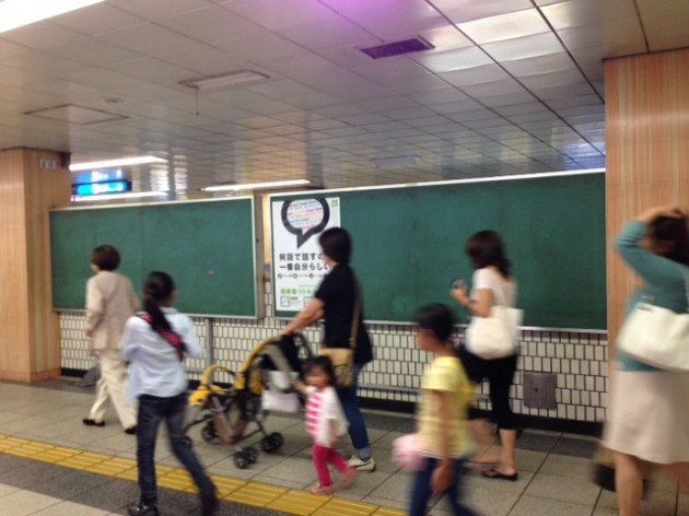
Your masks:
{"label": "white tiled lower wall beneath the green boards", "polygon": [[[261,320],[194,318],[201,343],[207,341],[207,328],[212,331],[214,363],[236,371],[260,341],[279,332],[284,321],[272,314],[270,283],[266,283],[266,314]],[[70,370],[89,370],[93,359],[85,338],[85,319],[81,312],[60,314],[61,365]],[[420,377],[429,362],[428,353],[416,347],[413,327],[407,325],[367,325],[376,360],[363,371],[360,395],[366,398],[416,401]],[[458,330],[462,338],[463,330]],[[319,330],[308,329],[304,336],[315,350]],[[187,362],[190,377],[199,378],[209,365],[207,360]],[[556,375],[556,410],[530,409],[523,403],[524,371]],[[220,379],[220,378],[219,378]],[[488,392],[488,386],[481,386]],[[575,421],[604,421],[608,392],[607,336],[572,331],[522,332],[521,356],[512,388],[512,408],[516,413]],[[479,407],[490,403],[481,396]]]}

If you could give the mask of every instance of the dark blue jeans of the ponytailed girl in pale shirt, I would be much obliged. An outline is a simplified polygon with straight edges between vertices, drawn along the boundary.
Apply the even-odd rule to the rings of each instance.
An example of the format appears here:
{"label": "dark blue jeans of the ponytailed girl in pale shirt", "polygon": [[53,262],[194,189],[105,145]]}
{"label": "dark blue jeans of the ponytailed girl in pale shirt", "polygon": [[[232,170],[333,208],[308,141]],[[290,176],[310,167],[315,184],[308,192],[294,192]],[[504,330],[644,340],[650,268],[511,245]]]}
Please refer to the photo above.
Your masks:
{"label": "dark blue jeans of the ponytailed girl in pale shirt", "polygon": [[184,412],[187,396],[182,394],[172,398],[142,395],[139,398],[137,417],[137,468],[141,503],[157,504],[157,484],[155,481],[155,439],[157,426],[164,419],[167,423],[170,445],[175,457],[187,469],[201,495],[214,492],[213,482],[203,471],[194,452],[184,443]]}

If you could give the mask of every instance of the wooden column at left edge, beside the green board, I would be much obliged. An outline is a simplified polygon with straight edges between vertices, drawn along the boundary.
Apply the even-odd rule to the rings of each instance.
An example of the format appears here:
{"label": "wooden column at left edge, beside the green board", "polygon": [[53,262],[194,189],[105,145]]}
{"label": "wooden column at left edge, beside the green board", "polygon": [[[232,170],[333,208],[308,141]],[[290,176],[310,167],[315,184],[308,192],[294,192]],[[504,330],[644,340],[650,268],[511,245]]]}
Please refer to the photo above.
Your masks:
{"label": "wooden column at left edge, beside the green board", "polygon": [[70,185],[58,152],[0,152],[0,379],[60,374],[48,211],[69,206]]}

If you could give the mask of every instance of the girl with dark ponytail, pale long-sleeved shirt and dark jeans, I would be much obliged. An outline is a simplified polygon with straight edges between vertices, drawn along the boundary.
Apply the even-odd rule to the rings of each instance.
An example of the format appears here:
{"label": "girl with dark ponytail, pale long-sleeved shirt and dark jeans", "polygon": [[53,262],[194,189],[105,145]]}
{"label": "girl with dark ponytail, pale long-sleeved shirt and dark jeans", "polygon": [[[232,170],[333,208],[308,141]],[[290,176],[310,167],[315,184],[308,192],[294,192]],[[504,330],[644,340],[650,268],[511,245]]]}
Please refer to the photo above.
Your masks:
{"label": "girl with dark ponytail, pale long-sleeved shirt and dark jeans", "polygon": [[155,439],[161,421],[167,424],[170,445],[199,489],[201,515],[214,513],[215,486],[184,441],[187,375],[184,356],[201,356],[189,318],[172,307],[177,291],[165,272],[151,272],[143,283],[143,317],[125,327],[121,354],[129,365],[128,398],[139,399],[137,468],[141,497],[127,507],[130,516],[157,516]]}

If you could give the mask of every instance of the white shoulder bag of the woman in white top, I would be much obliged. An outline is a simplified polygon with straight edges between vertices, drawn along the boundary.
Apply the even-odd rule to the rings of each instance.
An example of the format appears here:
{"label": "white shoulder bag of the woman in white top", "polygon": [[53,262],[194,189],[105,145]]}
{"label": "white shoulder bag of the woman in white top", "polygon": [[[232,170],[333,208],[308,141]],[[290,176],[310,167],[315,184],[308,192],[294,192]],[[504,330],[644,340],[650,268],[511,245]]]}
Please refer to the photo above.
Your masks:
{"label": "white shoulder bag of the woman in white top", "polygon": [[481,359],[503,359],[516,353],[524,310],[502,305],[490,307],[488,317],[471,317],[467,349]]}

